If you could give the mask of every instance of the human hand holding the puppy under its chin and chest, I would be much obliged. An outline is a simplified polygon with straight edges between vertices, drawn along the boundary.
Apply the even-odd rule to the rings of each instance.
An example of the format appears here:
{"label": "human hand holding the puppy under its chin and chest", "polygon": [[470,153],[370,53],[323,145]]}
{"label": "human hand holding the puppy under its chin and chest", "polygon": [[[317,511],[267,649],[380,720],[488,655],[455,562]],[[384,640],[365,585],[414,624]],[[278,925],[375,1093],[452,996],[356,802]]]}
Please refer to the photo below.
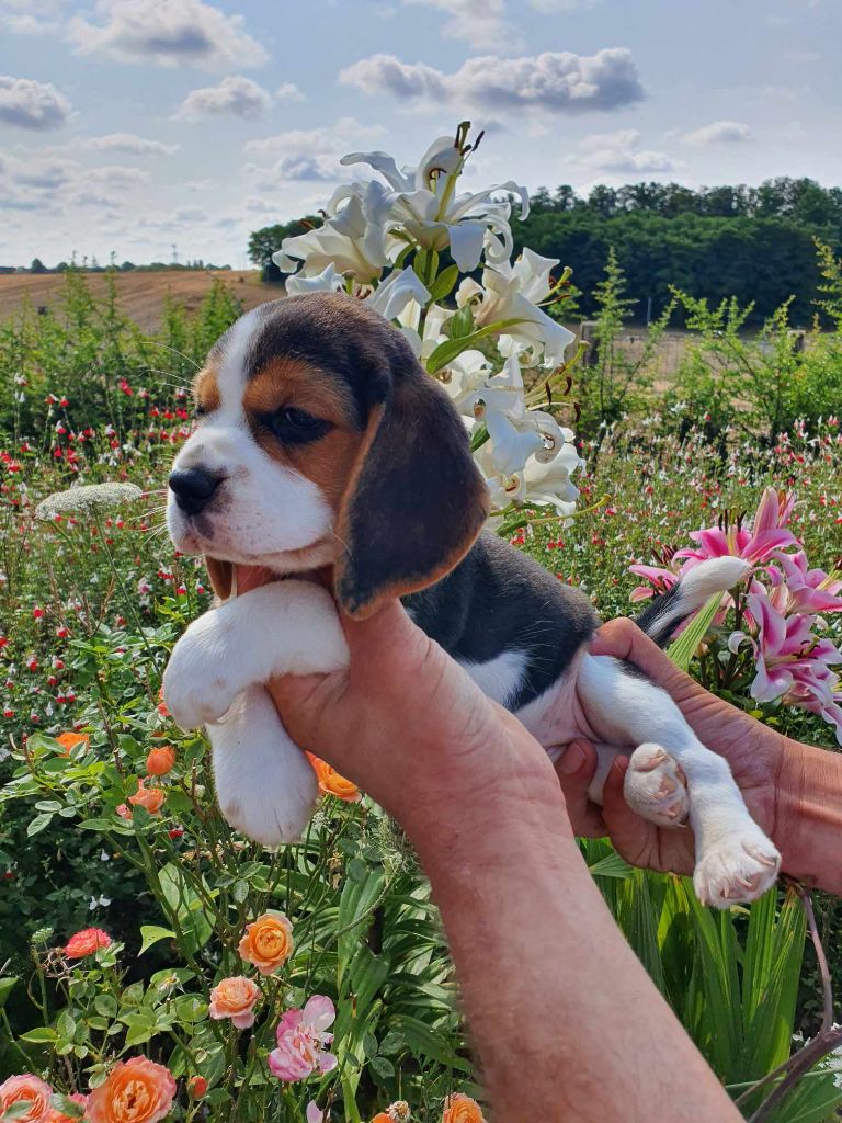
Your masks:
{"label": "human hand holding the puppy under its chin and chest", "polygon": [[[241,586],[240,586],[241,587]],[[560,801],[543,749],[394,601],[342,618],[349,668],[269,684],[296,745],[328,760],[415,841],[470,814],[474,830],[521,803]]]}

